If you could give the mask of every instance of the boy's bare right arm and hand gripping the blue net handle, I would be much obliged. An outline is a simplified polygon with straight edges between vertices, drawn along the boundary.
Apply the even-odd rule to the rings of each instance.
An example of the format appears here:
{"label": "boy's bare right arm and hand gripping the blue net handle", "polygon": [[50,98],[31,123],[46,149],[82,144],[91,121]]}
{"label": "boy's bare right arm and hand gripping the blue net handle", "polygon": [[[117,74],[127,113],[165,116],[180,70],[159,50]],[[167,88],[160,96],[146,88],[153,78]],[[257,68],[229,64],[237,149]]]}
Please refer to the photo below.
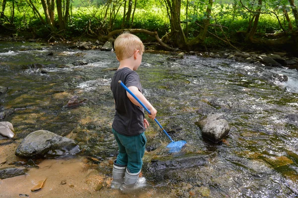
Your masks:
{"label": "boy's bare right arm and hand gripping the blue net handle", "polygon": [[[145,96],[139,91],[139,89],[135,86],[130,86],[128,89],[138,98],[140,101],[149,109],[150,113],[148,113],[149,118],[153,119],[156,116],[156,109],[150,104],[150,102],[145,98]],[[132,96],[130,93],[126,92],[127,97],[136,105],[142,107],[142,105]]]}

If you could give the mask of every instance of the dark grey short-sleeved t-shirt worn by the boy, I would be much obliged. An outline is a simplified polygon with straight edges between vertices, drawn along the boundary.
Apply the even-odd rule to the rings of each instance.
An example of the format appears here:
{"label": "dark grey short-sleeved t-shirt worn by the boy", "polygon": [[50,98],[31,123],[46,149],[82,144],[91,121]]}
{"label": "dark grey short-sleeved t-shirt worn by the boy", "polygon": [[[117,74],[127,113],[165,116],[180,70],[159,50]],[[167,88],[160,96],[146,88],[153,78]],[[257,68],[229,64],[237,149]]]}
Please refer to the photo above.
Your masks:
{"label": "dark grey short-sleeved t-shirt worn by the boy", "polygon": [[126,87],[135,86],[142,93],[142,85],[137,72],[124,67],[115,72],[111,90],[115,99],[116,114],[113,129],[125,136],[136,136],[145,131],[144,108],[135,105],[126,95],[126,90],[118,83],[121,80]]}

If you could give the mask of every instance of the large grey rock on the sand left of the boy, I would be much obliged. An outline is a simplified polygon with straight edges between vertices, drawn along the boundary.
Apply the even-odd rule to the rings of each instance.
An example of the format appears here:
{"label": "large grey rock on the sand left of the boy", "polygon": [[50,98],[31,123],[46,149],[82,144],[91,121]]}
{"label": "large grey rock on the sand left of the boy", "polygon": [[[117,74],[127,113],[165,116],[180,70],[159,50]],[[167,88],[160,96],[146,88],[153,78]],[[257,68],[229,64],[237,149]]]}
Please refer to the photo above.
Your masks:
{"label": "large grey rock on the sand left of the boy", "polygon": [[56,157],[74,155],[80,151],[79,146],[69,138],[50,131],[40,130],[30,133],[17,147],[15,155],[20,157]]}

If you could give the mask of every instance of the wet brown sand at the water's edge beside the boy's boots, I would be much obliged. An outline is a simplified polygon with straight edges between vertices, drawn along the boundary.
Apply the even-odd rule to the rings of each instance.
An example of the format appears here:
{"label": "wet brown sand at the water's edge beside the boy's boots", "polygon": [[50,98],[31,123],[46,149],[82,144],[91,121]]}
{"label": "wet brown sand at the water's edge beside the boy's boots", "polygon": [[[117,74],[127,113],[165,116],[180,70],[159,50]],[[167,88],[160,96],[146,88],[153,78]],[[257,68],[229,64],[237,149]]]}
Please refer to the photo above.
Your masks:
{"label": "wet brown sand at the water's edge beside the boy's boots", "polygon": [[[1,142],[2,141],[2,142]],[[3,140],[0,144],[3,143]],[[0,146],[0,165],[8,165],[24,159],[14,155],[18,142]],[[0,180],[0,198],[158,198],[170,197],[162,195],[154,188],[138,189],[130,193],[122,193],[110,188],[112,181],[112,160],[98,164],[90,163],[85,156],[60,157],[44,159],[39,168],[30,167],[25,175]],[[102,170],[102,171],[100,171]],[[105,172],[103,174],[102,172]],[[31,192],[40,181],[44,188]]]}

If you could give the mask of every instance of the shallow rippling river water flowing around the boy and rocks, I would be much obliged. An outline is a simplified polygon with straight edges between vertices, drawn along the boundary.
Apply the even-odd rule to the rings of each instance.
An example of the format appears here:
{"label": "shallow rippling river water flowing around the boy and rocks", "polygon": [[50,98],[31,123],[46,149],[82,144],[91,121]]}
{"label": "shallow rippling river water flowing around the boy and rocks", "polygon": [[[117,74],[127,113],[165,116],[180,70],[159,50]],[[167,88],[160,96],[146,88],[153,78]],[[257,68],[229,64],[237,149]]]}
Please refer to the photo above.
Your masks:
{"label": "shallow rippling river water flowing around the boy and rocks", "polygon": [[[0,95],[0,112],[14,108],[2,121],[11,122],[16,133],[13,141],[0,142],[0,148],[14,153],[11,149],[29,133],[48,130],[74,139],[82,149],[74,158],[41,162],[39,175],[48,171],[52,177],[47,176],[48,187],[46,183],[45,189],[30,197],[298,196],[298,122],[286,117],[298,113],[298,71],[194,55],[175,59],[166,53],[144,53],[138,73],[144,95],[158,111],[157,120],[173,140],[185,140],[187,145],[180,153],[169,154],[168,138],[150,121],[143,166],[146,187],[129,194],[109,189],[117,155],[111,133],[110,81],[117,66],[115,54],[109,51],[0,44],[0,86],[8,87]],[[281,80],[283,75],[288,81]],[[81,105],[64,107],[72,96],[78,96]],[[215,113],[231,126],[220,144],[203,139],[195,124]],[[70,161],[80,168],[68,166]],[[164,164],[156,166],[156,161]],[[54,183],[62,180],[54,176],[59,167],[63,177],[75,175],[72,180],[77,183],[55,189]],[[90,170],[100,177],[91,177]],[[18,195],[32,187],[37,178],[30,177],[35,172],[30,169],[26,177],[0,181],[0,189],[6,189],[0,190],[0,197],[13,197],[11,192]],[[87,191],[79,178],[84,185],[105,180],[104,187],[96,193]],[[14,188],[18,181],[32,184]]]}

